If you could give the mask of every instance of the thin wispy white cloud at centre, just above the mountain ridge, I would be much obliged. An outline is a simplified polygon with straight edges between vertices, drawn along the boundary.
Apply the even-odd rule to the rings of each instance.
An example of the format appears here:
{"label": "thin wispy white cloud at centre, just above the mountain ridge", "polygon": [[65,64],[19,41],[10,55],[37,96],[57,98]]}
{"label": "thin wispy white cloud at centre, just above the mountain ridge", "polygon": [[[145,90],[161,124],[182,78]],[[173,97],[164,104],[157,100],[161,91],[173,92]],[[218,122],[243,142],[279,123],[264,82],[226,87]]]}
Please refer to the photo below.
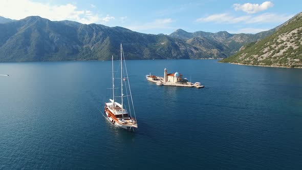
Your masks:
{"label": "thin wispy white cloud at centre, just above the mountain ridge", "polygon": [[172,23],[173,20],[171,18],[165,19],[156,19],[154,22],[145,23],[136,26],[128,26],[126,28],[139,31],[139,30],[148,30],[148,29],[170,29],[169,24]]}

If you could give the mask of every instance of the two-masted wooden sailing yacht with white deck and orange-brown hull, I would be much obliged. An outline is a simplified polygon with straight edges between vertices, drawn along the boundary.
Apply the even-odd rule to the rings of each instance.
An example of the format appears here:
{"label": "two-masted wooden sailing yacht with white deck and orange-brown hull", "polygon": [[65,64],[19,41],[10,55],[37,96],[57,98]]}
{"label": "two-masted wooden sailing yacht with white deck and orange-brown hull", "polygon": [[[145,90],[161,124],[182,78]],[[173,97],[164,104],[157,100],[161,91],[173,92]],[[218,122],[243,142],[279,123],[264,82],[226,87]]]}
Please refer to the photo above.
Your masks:
{"label": "two-masted wooden sailing yacht with white deck and orange-brown hull", "polygon": [[[123,67],[124,66],[124,67]],[[107,119],[115,126],[123,128],[126,130],[134,130],[138,128],[136,115],[134,111],[134,104],[130,89],[130,82],[127,80],[128,73],[126,68],[125,57],[123,55],[123,48],[121,44],[121,58],[120,58],[120,69],[121,69],[121,87],[120,87],[120,96],[115,96],[115,87],[114,87],[114,70],[113,70],[113,56],[112,56],[112,91],[113,99],[109,99],[110,102],[105,103],[104,113],[107,116]],[[123,70],[124,69],[124,70]],[[124,77],[124,75],[126,77]],[[125,86],[125,88],[123,87]],[[127,87],[127,88],[126,88]],[[123,91],[124,89],[124,91]],[[124,94],[125,93],[125,94]],[[120,103],[115,100],[115,98],[120,98]],[[127,98],[127,104],[124,103],[124,98]],[[128,111],[127,109],[128,108]],[[134,117],[132,117],[132,114]]]}

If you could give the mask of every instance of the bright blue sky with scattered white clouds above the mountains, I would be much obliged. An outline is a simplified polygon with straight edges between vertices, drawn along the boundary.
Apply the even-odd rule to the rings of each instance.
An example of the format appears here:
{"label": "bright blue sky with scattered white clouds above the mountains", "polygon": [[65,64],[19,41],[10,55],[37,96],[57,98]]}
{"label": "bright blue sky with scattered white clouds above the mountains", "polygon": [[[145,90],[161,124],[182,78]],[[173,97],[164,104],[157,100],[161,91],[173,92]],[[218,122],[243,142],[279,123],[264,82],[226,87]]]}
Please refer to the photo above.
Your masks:
{"label": "bright blue sky with scattered white clouds above the mountains", "polygon": [[283,24],[302,12],[301,7],[299,1],[291,0],[0,0],[0,16],[23,19],[38,15],[147,34],[170,34],[177,29],[254,34]]}

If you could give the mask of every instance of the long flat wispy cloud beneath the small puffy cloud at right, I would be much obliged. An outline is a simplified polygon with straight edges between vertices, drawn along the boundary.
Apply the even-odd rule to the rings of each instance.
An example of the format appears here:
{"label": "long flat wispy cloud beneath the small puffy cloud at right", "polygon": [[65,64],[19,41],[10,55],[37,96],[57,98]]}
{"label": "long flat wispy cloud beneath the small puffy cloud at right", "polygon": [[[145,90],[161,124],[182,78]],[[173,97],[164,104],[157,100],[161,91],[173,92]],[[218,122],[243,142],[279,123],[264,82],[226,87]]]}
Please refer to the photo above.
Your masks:
{"label": "long flat wispy cloud beneath the small puffy cloud at right", "polygon": [[288,19],[293,17],[293,15],[285,14],[274,14],[274,13],[264,13],[257,16],[243,15],[243,16],[233,16],[228,13],[213,14],[207,17],[201,17],[196,19],[196,22],[214,22],[219,24],[234,24],[234,23],[284,23]]}

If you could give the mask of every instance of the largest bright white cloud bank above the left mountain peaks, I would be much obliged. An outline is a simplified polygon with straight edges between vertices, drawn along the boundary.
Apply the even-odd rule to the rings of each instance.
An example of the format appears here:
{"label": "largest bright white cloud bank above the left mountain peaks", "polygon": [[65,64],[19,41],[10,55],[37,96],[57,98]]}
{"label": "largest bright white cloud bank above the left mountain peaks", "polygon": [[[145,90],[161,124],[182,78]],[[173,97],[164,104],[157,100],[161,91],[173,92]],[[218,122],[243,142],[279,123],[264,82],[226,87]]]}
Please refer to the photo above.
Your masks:
{"label": "largest bright white cloud bank above the left mountain peaks", "polygon": [[[93,7],[92,4],[91,7]],[[0,16],[22,19],[32,15],[50,20],[73,20],[83,24],[106,23],[114,19],[113,16],[109,15],[101,17],[89,10],[78,10],[77,6],[73,4],[51,5],[32,0],[4,0],[1,2]]]}

